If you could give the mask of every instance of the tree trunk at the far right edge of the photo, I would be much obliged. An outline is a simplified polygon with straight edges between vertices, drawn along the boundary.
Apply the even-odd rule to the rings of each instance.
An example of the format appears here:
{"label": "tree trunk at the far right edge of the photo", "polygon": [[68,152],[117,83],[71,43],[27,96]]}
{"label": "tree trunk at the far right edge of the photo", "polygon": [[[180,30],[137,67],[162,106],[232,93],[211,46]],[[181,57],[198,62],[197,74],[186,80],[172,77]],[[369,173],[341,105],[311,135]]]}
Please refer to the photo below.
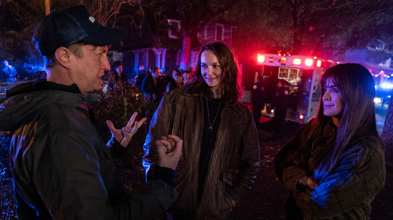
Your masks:
{"label": "tree trunk at the far right edge of the photo", "polygon": [[[392,95],[393,96],[393,93]],[[385,149],[385,161],[391,161],[392,147],[393,147],[393,98],[390,98],[389,105],[387,107],[385,124],[381,134],[381,140]]]}

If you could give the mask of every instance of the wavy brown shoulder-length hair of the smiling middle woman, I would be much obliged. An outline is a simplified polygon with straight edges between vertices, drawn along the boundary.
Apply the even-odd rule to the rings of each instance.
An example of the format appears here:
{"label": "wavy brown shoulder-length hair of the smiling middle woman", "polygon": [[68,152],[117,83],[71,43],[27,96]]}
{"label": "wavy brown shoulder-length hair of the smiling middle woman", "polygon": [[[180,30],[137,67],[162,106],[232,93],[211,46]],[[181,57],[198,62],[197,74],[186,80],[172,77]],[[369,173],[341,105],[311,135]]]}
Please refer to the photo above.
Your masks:
{"label": "wavy brown shoulder-length hair of the smiling middle woman", "polygon": [[215,42],[202,46],[198,56],[198,63],[195,73],[191,76],[192,83],[188,85],[193,92],[200,93],[207,98],[213,98],[213,92],[206,84],[201,72],[201,55],[204,51],[211,50],[217,56],[222,69],[222,82],[219,85],[221,91],[221,99],[224,102],[235,103],[239,101],[243,95],[241,85],[241,70],[227,45]]}

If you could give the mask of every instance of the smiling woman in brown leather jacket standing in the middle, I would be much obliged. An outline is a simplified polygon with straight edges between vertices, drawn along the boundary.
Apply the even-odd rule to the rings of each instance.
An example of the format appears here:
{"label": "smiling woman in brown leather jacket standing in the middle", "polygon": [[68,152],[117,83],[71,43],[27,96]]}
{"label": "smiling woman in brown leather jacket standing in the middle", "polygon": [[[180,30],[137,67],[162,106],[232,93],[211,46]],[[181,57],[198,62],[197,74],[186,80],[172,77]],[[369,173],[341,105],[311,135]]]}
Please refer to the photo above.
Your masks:
{"label": "smiling woman in brown leather jacket standing in the middle", "polygon": [[202,47],[192,83],[166,93],[144,145],[146,176],[157,164],[154,140],[183,140],[176,168],[179,196],[168,219],[224,219],[253,183],[259,144],[252,114],[240,103],[241,75],[223,43]]}

